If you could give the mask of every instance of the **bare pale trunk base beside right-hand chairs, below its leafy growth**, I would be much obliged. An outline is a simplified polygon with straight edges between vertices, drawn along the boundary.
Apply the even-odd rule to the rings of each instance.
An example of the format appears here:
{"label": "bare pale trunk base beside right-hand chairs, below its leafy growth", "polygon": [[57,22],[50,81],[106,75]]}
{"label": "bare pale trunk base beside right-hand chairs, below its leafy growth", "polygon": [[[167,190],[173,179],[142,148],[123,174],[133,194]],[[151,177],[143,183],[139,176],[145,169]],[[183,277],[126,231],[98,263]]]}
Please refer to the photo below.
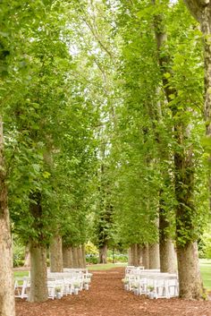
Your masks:
{"label": "bare pale trunk base beside right-hand chairs, below its leafy growth", "polygon": [[202,281],[198,264],[197,243],[186,243],[177,247],[180,296],[185,299],[198,299],[202,295]]}

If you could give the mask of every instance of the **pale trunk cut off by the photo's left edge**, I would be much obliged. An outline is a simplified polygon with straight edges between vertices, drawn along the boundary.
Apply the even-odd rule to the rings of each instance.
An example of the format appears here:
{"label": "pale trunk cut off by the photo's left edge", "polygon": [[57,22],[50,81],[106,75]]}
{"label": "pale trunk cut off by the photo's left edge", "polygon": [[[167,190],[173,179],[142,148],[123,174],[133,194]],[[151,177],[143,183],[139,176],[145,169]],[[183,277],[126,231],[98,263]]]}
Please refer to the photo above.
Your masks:
{"label": "pale trunk cut off by the photo's left edge", "polygon": [[4,169],[3,122],[0,117],[0,315],[14,316],[13,254]]}

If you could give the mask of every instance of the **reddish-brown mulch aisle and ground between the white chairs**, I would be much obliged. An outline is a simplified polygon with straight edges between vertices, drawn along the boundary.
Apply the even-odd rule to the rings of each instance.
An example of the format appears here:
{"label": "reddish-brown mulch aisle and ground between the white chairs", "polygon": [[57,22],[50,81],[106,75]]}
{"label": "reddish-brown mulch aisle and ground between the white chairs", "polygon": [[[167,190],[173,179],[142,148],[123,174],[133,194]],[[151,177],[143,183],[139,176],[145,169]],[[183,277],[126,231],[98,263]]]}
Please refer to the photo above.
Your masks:
{"label": "reddish-brown mulch aisle and ground between the white chairs", "polygon": [[94,271],[89,291],[45,303],[17,299],[16,316],[211,316],[211,301],[149,300],[124,291],[122,278],[122,268]]}

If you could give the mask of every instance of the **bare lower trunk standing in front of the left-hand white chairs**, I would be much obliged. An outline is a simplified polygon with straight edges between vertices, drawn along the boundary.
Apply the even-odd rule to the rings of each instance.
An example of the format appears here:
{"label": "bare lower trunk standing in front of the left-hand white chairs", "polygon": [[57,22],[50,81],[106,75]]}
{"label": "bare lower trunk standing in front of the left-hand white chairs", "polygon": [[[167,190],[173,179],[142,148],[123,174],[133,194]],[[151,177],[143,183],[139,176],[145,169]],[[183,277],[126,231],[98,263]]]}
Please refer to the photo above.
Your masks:
{"label": "bare lower trunk standing in front of the left-hand white chairs", "polygon": [[46,247],[38,243],[30,244],[30,302],[47,300]]}

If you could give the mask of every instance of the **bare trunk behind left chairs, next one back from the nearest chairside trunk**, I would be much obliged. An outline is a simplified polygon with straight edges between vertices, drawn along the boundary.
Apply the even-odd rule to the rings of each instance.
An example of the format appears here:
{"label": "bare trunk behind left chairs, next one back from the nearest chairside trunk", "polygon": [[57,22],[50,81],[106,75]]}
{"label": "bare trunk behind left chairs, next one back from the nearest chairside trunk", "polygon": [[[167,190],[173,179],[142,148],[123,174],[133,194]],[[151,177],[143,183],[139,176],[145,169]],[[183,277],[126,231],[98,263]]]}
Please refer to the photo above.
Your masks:
{"label": "bare trunk behind left chairs, next one back from the nearest chairside trunk", "polygon": [[63,272],[63,240],[61,235],[55,235],[50,243],[51,272]]}

